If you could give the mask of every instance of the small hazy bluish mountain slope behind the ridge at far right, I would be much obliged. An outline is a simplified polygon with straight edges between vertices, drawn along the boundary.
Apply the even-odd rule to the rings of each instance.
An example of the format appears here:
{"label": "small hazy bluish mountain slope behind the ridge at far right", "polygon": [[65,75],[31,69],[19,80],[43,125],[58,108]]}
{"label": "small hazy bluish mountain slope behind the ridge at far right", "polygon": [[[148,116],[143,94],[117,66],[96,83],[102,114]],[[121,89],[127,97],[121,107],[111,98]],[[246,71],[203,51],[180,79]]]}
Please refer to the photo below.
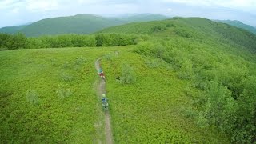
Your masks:
{"label": "small hazy bluish mountain slope behind the ridge at far right", "polygon": [[256,27],[254,26],[250,26],[250,25],[246,25],[242,22],[239,22],[239,21],[230,21],[230,20],[216,20],[216,22],[222,22],[222,23],[226,23],[226,24],[229,24],[231,26],[236,26],[236,27],[239,27],[239,28],[242,28],[244,30],[248,30],[254,34],[256,34]]}

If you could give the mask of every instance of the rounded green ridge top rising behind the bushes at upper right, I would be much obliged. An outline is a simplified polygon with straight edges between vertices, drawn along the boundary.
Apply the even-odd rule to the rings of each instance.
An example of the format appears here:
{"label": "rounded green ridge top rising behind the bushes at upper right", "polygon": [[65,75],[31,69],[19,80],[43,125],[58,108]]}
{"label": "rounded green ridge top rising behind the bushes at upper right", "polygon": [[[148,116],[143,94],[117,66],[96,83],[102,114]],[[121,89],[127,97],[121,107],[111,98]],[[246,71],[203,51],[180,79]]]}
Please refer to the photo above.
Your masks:
{"label": "rounded green ridge top rising behind the bushes at upper right", "polygon": [[247,30],[205,18],[170,18],[161,22],[134,22],[98,33],[149,34],[157,38],[193,38],[196,41],[240,46],[256,50],[256,35]]}

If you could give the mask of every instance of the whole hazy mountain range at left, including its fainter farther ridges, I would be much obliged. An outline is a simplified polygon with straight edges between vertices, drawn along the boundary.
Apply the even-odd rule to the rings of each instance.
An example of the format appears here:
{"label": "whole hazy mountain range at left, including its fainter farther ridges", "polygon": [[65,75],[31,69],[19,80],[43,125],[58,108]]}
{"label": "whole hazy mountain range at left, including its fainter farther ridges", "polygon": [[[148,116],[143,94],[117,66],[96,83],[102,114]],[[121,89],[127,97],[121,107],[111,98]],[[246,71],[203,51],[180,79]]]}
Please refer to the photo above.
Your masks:
{"label": "whole hazy mountain range at left, including its fainter farther ridges", "polygon": [[46,18],[27,26],[3,27],[0,33],[14,34],[22,32],[26,36],[56,34],[91,34],[110,26],[130,22],[146,22],[166,19],[159,14],[136,14],[126,17],[105,18],[98,15],[78,14],[69,17]]}

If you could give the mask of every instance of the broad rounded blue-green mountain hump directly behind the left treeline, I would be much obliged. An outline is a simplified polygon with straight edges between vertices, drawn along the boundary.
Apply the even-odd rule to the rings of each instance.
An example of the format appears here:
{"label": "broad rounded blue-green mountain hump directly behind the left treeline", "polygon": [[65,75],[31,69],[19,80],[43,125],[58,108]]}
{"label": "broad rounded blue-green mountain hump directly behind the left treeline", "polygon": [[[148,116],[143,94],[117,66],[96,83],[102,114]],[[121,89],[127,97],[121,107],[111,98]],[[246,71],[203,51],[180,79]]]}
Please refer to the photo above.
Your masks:
{"label": "broad rounded blue-green mountain hump directly behind the left treeline", "polygon": [[70,17],[43,19],[26,26],[21,32],[27,36],[46,34],[90,34],[94,31],[120,24],[122,24],[122,22],[116,19],[79,14]]}

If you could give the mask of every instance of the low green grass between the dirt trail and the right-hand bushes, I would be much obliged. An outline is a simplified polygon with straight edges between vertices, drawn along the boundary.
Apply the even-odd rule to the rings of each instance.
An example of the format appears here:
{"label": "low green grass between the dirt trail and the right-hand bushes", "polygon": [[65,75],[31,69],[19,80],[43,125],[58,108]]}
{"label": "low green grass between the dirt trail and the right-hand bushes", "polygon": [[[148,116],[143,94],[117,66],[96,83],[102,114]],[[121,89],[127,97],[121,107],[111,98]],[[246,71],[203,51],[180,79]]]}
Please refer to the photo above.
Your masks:
{"label": "low green grass between the dirt trail and the right-hand bushes", "polygon": [[[166,63],[159,62],[159,67],[153,69],[147,66],[148,61],[129,51],[103,61],[115,142],[226,143],[223,135],[201,129],[185,118],[183,110],[192,102],[184,93],[187,82],[179,80]],[[131,85],[116,79],[126,64],[136,75]]]}

